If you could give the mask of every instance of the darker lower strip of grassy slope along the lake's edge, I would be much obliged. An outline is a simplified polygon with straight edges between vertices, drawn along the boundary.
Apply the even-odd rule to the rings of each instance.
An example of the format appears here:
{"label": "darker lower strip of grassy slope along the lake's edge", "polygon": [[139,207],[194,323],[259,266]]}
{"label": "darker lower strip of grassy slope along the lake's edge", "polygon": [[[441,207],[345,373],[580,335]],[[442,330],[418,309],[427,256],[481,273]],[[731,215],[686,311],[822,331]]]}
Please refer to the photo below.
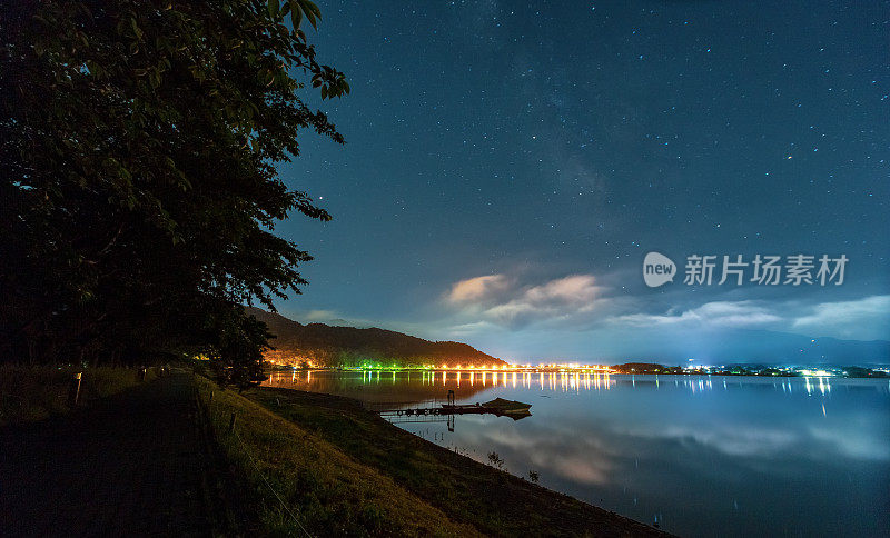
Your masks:
{"label": "darker lower strip of grassy slope along the lake's edge", "polygon": [[[660,531],[438,447],[343,397],[258,388],[245,396],[427,506],[488,536],[652,536]],[[276,426],[278,428],[278,426]],[[338,456],[339,458],[340,456]],[[270,467],[269,472],[275,472]],[[350,478],[350,477],[345,477]],[[375,478],[377,480],[377,478]]]}

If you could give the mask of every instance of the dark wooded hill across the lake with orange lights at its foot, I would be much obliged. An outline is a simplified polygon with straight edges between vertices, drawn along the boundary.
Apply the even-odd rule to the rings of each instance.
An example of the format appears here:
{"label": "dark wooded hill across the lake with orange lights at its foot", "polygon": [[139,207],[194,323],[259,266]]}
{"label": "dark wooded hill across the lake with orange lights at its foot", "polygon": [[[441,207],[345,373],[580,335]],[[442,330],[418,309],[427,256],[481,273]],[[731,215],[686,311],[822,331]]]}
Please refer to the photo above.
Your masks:
{"label": "dark wooded hill across the lake with orange lights at its foot", "polygon": [[385,329],[357,329],[324,323],[303,325],[278,313],[248,308],[276,336],[266,358],[281,363],[315,366],[504,365],[501,359],[461,342],[432,342]]}

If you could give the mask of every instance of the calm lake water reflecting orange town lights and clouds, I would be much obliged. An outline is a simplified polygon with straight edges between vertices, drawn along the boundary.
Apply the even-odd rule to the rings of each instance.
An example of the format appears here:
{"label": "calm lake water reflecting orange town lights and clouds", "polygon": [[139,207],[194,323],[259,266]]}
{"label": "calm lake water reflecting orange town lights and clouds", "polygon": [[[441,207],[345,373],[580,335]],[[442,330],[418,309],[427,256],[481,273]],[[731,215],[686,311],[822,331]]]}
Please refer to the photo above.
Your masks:
{"label": "calm lake water reflecting orange town lights and clouds", "polygon": [[888,380],[316,371],[269,383],[377,405],[448,389],[532,404],[517,421],[398,426],[683,536],[890,535]]}

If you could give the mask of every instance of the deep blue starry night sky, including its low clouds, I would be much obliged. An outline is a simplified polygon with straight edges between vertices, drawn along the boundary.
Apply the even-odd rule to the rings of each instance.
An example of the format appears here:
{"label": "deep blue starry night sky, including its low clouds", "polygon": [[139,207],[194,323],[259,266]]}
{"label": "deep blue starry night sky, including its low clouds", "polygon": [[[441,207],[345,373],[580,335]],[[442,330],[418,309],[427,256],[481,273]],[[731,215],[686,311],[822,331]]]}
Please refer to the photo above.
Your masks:
{"label": "deep blue starry night sky, including its low clouds", "polygon": [[[890,2],[317,3],[352,94],[307,102],[347,143],[279,167],[334,216],[276,228],[316,257],[281,313],[533,362],[890,339]],[[849,262],[716,283],[758,253]]]}

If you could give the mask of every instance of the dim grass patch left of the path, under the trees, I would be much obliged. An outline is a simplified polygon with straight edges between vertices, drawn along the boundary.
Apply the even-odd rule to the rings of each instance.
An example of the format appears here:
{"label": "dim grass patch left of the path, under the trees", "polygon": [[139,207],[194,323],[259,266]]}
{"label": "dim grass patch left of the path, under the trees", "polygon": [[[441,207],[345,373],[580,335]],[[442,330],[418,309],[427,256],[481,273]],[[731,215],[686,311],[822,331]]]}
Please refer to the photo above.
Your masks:
{"label": "dim grass patch left of the path, under the trees", "polygon": [[[138,385],[138,370],[130,368],[0,367],[0,426],[43,420],[68,412],[68,390],[75,372],[81,371],[80,405],[118,393]],[[149,369],[146,380],[156,377]]]}

